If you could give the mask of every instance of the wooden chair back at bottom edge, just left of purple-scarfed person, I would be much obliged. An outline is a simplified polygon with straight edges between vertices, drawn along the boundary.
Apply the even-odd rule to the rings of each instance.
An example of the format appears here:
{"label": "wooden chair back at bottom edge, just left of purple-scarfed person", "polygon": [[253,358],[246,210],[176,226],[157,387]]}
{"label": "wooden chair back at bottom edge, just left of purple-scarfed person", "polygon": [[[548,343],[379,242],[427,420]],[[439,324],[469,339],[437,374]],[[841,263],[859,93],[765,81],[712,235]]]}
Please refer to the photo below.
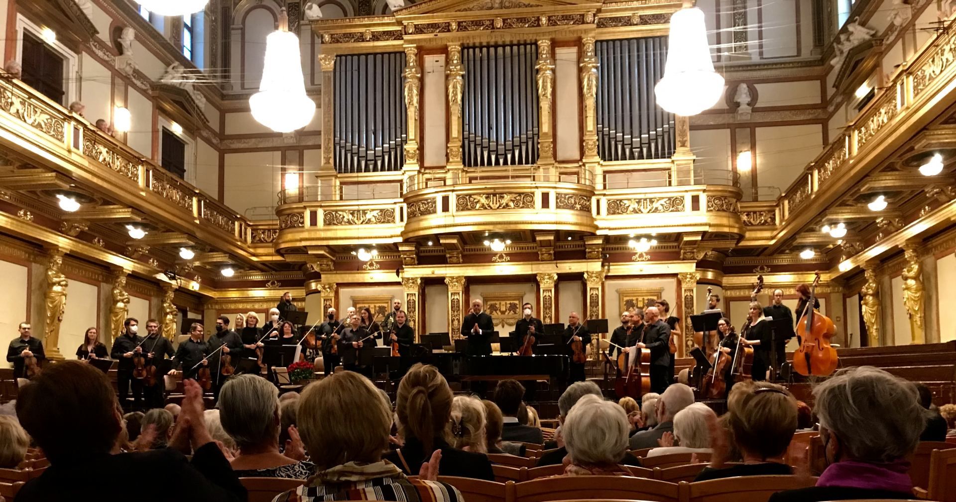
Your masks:
{"label": "wooden chair back at bottom edge, just left of purple-scarfed person", "polygon": [[689,490],[684,502],[767,502],[773,493],[812,487],[815,484],[815,477],[793,475],[736,476],[680,483]]}

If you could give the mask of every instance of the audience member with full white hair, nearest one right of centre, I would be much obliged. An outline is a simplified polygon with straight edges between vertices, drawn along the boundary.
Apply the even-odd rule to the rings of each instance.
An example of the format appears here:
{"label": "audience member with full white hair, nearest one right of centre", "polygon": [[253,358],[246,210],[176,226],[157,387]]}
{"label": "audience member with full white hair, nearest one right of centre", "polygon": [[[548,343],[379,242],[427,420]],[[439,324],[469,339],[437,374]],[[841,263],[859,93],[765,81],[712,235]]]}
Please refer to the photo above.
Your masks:
{"label": "audience member with full white hair, nearest one right of centre", "polygon": [[577,400],[562,427],[568,450],[565,476],[629,476],[618,463],[627,451],[627,415],[595,394]]}

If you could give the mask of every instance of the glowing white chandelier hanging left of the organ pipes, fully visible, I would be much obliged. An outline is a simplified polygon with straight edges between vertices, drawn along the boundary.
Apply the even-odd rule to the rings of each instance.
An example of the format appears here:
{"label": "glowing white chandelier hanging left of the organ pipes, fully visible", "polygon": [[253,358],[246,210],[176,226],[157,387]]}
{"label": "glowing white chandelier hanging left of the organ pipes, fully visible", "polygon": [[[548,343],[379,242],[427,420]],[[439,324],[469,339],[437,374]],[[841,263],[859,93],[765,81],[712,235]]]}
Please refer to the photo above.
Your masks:
{"label": "glowing white chandelier hanging left of the organ pipes, fully visible", "polygon": [[276,133],[305,127],[315,115],[315,101],[305,94],[298,37],[288,30],[283,9],[279,29],[266,37],[266,61],[259,92],[249,98],[252,117]]}

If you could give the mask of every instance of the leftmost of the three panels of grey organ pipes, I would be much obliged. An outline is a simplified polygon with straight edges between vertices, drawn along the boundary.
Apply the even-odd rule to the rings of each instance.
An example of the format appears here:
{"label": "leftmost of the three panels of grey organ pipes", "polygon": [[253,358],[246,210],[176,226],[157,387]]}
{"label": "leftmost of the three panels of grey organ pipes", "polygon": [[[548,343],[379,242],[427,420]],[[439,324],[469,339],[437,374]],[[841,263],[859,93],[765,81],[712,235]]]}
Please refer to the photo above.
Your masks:
{"label": "leftmost of the three panels of grey organ pipes", "polygon": [[404,55],[337,55],[334,144],[338,173],[402,170],[402,147],[407,139]]}

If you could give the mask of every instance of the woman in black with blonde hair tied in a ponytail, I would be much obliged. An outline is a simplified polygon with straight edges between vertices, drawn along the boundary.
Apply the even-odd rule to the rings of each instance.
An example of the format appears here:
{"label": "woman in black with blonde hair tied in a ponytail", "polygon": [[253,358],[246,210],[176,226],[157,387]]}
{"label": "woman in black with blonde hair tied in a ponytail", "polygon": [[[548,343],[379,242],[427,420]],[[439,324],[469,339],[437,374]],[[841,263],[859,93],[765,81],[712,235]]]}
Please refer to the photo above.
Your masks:
{"label": "woman in black with blonde hair tied in a ponytail", "polygon": [[[402,468],[405,474],[414,475],[432,451],[441,450],[439,474],[494,481],[491,462],[485,453],[455,450],[450,446],[451,400],[451,388],[435,366],[417,364],[409,368],[402,377],[395,399],[399,435],[404,445],[399,450],[389,451],[384,458]],[[300,403],[300,423],[302,411]],[[311,449],[309,452],[316,454]]]}

